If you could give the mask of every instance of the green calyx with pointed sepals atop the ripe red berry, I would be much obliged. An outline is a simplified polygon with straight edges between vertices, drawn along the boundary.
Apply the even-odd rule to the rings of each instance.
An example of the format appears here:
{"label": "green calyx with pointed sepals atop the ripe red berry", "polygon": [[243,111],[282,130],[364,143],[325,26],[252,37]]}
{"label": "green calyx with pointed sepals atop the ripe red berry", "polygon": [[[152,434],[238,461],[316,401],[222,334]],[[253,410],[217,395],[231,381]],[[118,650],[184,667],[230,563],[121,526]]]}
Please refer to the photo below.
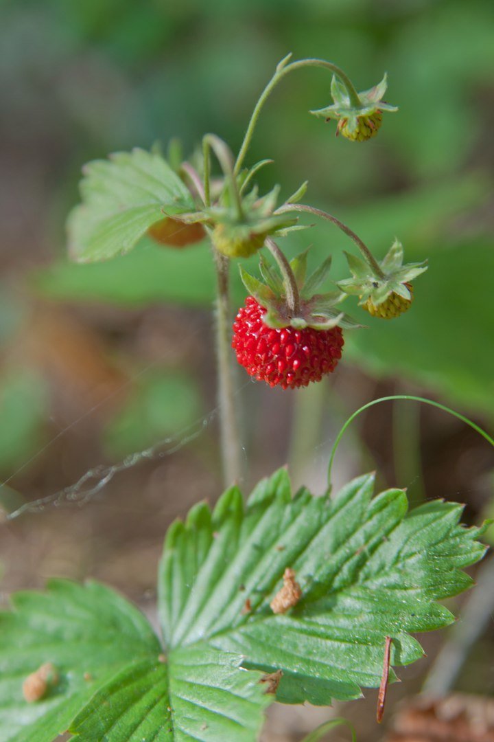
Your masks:
{"label": "green calyx with pointed sepals atop the ripe red berry", "polygon": [[241,280],[245,288],[266,309],[262,318],[264,324],[273,329],[290,326],[295,329],[313,327],[313,329],[319,330],[331,329],[336,326],[343,329],[361,326],[338,308],[338,305],[345,298],[344,292],[315,293],[316,289],[327,278],[331,258],[328,257],[324,260],[324,263],[307,278],[307,252],[308,250],[305,250],[301,255],[290,260],[290,269],[298,288],[299,306],[296,312],[290,308],[287,302],[287,290],[281,274],[268,263],[264,256],[261,256],[259,263],[263,281],[254,278],[240,266]]}

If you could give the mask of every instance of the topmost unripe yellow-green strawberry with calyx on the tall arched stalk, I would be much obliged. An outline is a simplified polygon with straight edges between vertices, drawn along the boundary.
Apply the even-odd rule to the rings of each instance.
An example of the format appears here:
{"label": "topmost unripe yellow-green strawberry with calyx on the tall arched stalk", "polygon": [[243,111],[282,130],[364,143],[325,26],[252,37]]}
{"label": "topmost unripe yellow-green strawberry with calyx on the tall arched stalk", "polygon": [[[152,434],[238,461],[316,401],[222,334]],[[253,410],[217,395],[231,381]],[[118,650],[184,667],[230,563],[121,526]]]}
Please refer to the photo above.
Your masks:
{"label": "topmost unripe yellow-green strawberry with calyx on the tall arched stalk", "polygon": [[338,128],[336,134],[341,132],[347,139],[364,141],[370,139],[381,125],[381,114],[383,111],[398,111],[395,105],[389,105],[383,101],[387,89],[387,75],[381,82],[367,91],[358,93],[358,105],[352,102],[347,88],[333,75],[331,82],[331,95],[333,105],[310,111],[314,116],[321,116],[326,120],[336,119]]}

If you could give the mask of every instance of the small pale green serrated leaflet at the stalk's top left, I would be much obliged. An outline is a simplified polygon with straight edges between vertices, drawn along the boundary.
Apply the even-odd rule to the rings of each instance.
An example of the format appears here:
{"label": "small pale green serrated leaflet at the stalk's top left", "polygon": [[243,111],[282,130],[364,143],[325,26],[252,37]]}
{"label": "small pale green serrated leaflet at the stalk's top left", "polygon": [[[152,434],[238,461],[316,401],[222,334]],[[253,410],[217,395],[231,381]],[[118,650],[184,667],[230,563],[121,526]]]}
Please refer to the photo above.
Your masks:
{"label": "small pale green serrated leaflet at the stalk's top left", "polygon": [[69,214],[69,253],[81,263],[129,252],[166,215],[194,209],[190,191],[156,152],[133,149],[84,166],[81,203]]}

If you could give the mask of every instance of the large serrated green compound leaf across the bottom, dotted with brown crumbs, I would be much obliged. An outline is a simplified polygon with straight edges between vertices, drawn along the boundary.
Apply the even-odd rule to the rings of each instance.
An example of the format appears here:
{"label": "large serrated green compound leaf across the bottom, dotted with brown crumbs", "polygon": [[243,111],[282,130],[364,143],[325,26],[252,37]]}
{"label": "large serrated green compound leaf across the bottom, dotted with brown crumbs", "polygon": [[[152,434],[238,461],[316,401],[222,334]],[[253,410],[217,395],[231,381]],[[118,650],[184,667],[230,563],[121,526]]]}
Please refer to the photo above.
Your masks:
{"label": "large serrated green compound leaf across the bottom, dotted with brown crumbs", "polygon": [[[237,487],[168,530],[158,576],[162,643],[126,600],[96,582],[51,582],[0,616],[0,738],[52,742],[253,742],[276,697],[319,705],[379,684],[384,637],[394,666],[423,652],[410,632],[447,626],[436,601],[470,587],[482,528],[461,506],[407,513],[403,490],[373,497],[373,476],[336,496],[292,496],[285,470],[244,505]],[[273,614],[287,567],[302,597]],[[23,680],[53,663],[59,683],[27,703]],[[248,672],[249,671],[249,672]],[[390,673],[393,680],[395,675]]]}

